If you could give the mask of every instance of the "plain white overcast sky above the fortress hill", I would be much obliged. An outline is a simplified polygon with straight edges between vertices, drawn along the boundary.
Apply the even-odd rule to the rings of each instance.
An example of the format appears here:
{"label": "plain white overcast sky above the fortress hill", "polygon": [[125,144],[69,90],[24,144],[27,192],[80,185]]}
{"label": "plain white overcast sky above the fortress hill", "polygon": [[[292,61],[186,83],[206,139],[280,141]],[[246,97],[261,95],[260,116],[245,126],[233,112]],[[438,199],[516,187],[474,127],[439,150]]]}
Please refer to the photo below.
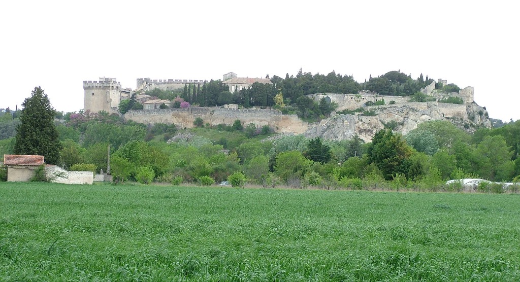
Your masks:
{"label": "plain white overcast sky above the fortress hill", "polygon": [[514,1],[8,1],[0,108],[41,86],[58,111],[84,80],[312,74],[357,82],[400,70],[473,86],[491,118],[520,119]]}

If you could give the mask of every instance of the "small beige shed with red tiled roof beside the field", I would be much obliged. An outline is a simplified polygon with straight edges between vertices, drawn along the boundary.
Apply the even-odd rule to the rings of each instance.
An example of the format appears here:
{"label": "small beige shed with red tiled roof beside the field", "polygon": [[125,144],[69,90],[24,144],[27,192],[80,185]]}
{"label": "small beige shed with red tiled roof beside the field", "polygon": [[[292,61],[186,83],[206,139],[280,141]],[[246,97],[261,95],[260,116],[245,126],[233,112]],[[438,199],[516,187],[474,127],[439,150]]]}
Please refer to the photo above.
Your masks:
{"label": "small beige shed with red tiled roof beside the field", "polygon": [[38,155],[4,155],[7,166],[7,181],[29,181],[34,170],[43,165],[43,156]]}

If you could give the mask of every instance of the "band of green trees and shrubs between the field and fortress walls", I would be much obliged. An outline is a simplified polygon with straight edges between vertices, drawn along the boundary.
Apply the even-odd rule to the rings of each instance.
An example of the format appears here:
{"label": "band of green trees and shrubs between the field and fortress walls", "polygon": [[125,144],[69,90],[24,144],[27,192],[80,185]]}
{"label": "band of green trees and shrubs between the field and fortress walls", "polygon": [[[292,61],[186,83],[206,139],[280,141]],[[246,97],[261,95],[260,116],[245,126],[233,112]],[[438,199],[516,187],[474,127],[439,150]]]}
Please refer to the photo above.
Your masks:
{"label": "band of green trees and shrubs between the field and fortress walls", "polygon": [[[388,128],[365,144],[357,137],[276,136],[268,127],[239,120],[211,128],[201,120],[198,128],[177,130],[174,125],[123,123],[117,115],[72,114],[57,126],[63,145],[59,165],[93,164],[107,171],[110,145],[117,181],[200,184],[201,177],[220,182],[240,173],[241,183],[264,187],[414,191],[460,191],[445,186],[448,179],[518,182],[520,121],[474,135],[447,121],[420,124],[405,137]],[[13,150],[14,138],[0,140],[2,156]]]}

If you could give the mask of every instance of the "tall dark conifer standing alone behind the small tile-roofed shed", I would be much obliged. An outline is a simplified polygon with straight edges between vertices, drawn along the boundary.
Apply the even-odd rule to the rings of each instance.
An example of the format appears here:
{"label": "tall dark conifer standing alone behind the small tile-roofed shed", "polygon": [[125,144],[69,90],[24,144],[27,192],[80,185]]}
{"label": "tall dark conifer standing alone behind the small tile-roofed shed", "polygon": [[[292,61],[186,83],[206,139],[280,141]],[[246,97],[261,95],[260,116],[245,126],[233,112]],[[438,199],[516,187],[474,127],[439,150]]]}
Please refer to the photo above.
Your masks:
{"label": "tall dark conifer standing alone behind the small tile-roofed shed", "polygon": [[15,153],[43,155],[46,164],[58,164],[62,146],[49,98],[38,86],[22,106],[21,123],[16,128]]}

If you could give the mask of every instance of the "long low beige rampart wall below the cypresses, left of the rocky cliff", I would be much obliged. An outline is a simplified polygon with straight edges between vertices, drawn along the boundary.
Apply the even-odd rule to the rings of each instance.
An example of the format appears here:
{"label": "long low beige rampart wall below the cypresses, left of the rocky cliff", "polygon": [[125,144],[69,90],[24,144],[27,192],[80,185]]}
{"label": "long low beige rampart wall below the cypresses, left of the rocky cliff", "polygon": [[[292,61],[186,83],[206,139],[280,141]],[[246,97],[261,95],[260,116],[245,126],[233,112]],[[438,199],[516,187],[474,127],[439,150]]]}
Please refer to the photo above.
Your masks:
{"label": "long low beige rampart wall below the cypresses, left of the rocky cliff", "polygon": [[268,125],[277,133],[303,133],[308,123],[296,115],[283,115],[276,110],[224,109],[220,107],[189,107],[186,109],[131,110],[124,115],[126,120],[143,124],[175,124],[180,128],[192,128],[197,117],[210,125],[232,125],[236,119],[245,126],[254,123],[261,127]]}

